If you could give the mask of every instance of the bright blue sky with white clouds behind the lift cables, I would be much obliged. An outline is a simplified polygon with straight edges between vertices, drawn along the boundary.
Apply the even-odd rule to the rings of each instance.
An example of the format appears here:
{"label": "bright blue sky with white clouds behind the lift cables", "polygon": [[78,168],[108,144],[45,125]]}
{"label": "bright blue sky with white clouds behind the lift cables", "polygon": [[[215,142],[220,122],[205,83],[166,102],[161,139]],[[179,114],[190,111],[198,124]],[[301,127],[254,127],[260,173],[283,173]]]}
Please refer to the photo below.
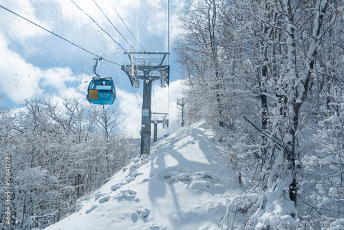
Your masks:
{"label": "bright blue sky with white clouds behind the lift cables", "polygon": [[[94,0],[129,41],[136,51],[167,51],[167,1],[166,0]],[[93,0],[74,2],[89,14],[105,31],[111,34],[116,44],[96,23],[81,12],[71,0],[0,0],[0,5],[37,23],[47,30],[80,45],[98,56],[119,64],[129,63],[125,50],[133,49],[107,21]],[[112,5],[111,5],[112,3]],[[168,90],[154,82],[153,112],[170,112],[170,132],[180,125],[177,115],[180,112],[175,98],[181,91],[178,71],[173,55],[173,39],[178,29],[178,15],[184,7],[182,0],[170,0],[170,65],[171,87],[169,109],[167,108]],[[120,14],[133,35],[114,10]],[[87,85],[92,79],[92,66],[96,56],[59,39],[32,23],[0,8],[0,92],[5,94],[1,107],[21,106],[25,99],[33,96],[51,97],[58,101],[63,98],[80,97],[85,100]],[[120,46],[122,46],[122,49]],[[153,56],[152,56],[153,57]],[[138,137],[140,129],[140,109],[125,72],[120,66],[102,61],[97,73],[112,76],[118,98],[114,106],[119,106],[126,118],[126,126],[131,136]],[[85,83],[87,81],[87,83]],[[142,88],[136,89],[142,105]],[[86,103],[86,100],[85,100]],[[161,128],[160,128],[161,129]],[[164,132],[160,132],[163,135]]]}

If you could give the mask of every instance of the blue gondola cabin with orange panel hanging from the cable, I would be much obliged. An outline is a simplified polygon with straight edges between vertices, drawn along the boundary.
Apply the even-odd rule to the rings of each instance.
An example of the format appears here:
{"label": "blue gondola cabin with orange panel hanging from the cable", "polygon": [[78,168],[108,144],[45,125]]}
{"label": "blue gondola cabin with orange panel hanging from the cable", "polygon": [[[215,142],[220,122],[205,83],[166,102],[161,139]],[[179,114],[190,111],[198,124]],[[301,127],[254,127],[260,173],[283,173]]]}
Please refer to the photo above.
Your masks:
{"label": "blue gondola cabin with orange panel hanging from the cable", "polygon": [[112,105],[116,89],[112,79],[92,79],[87,89],[87,101],[96,105]]}

